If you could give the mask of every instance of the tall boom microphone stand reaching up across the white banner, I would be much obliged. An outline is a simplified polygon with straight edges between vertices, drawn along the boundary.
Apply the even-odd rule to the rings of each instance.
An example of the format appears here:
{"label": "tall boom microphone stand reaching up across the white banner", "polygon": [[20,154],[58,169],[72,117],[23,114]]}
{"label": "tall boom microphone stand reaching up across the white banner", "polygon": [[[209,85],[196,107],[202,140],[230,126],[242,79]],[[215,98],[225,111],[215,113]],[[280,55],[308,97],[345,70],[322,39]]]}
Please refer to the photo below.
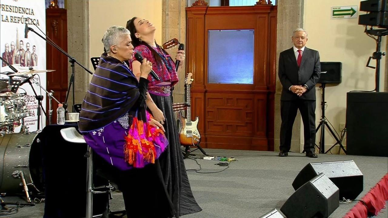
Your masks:
{"label": "tall boom microphone stand reaching up across the white banner", "polygon": [[71,57],[67,52],[65,52],[61,47],[59,47],[58,45],[56,45],[54,42],[52,42],[51,40],[47,40],[45,37],[43,37],[42,35],[40,35],[39,33],[37,33],[33,28],[30,28],[28,27],[28,31],[32,31],[34,32],[36,35],[38,35],[40,38],[42,38],[43,40],[45,40],[47,43],[49,43],[50,45],[52,45],[54,48],[56,48],[57,50],[59,50],[60,52],[62,52],[64,55],[66,55],[70,60],[69,62],[71,63],[71,76],[70,76],[70,81],[69,81],[69,87],[68,87],[68,93],[66,94],[66,100],[65,102],[63,103],[63,107],[64,109],[66,110],[67,107],[68,107],[68,99],[69,99],[69,93],[70,93],[70,88],[71,86],[73,85],[73,109],[72,109],[72,112],[74,112],[74,74],[75,74],[75,69],[74,69],[74,63],[78,64],[79,66],[81,66],[83,69],[85,69],[86,72],[88,72],[89,74],[93,75],[92,71],[90,71],[89,69],[87,69],[86,67],[84,67],[82,64],[80,64],[79,62],[77,62],[77,60],[74,58],[74,57]]}

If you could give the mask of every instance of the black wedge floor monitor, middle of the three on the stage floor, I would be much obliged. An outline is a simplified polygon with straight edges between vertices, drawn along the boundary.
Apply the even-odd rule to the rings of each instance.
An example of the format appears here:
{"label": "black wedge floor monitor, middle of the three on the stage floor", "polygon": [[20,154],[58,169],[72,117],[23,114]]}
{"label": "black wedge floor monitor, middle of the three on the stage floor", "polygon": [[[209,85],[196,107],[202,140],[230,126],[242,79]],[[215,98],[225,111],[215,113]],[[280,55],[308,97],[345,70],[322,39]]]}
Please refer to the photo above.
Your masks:
{"label": "black wedge floor monitor, middle of the three on the stage floor", "polygon": [[287,218],[327,218],[340,206],[340,190],[320,173],[302,185],[280,210]]}

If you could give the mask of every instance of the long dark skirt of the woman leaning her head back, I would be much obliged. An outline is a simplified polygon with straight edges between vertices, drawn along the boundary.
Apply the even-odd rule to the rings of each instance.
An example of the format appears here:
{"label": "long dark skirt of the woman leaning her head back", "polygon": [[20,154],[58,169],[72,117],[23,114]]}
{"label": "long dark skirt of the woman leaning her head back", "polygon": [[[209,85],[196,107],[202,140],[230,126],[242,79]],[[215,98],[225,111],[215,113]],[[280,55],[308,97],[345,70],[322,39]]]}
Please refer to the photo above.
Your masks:
{"label": "long dark skirt of the woman leaning her head back", "polygon": [[183,154],[178,137],[177,119],[175,118],[170,96],[150,93],[156,106],[163,112],[166,121],[163,125],[169,145],[159,157],[160,170],[168,198],[173,206],[175,217],[196,213],[202,209],[197,204],[187,178]]}

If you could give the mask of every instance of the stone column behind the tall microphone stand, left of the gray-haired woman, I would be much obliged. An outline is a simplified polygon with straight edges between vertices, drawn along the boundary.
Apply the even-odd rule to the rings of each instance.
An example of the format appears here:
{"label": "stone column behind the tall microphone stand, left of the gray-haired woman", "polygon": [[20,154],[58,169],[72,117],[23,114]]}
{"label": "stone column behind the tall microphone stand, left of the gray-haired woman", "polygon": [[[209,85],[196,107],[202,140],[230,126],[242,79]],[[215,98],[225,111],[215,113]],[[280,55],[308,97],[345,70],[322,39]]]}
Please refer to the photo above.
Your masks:
{"label": "stone column behind the tall microphone stand, left of the gray-haired woman", "polygon": [[[80,64],[89,68],[89,0],[66,1],[68,10],[68,53]],[[71,77],[71,67],[69,63],[68,80]],[[91,75],[82,67],[75,64],[75,96],[76,104],[81,104],[89,85]],[[72,102],[72,89],[69,93],[69,111]]]}

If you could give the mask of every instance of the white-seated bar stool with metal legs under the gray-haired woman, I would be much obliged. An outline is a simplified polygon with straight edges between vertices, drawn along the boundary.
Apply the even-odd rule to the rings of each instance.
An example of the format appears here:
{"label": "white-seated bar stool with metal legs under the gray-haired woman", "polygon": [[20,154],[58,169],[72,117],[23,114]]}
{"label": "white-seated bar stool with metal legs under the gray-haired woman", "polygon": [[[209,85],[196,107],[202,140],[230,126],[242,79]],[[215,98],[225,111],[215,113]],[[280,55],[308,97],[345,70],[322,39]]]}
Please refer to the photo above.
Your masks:
{"label": "white-seated bar stool with metal legs under the gray-haired woman", "polygon": [[[64,140],[71,143],[78,143],[78,144],[86,144],[85,139],[83,139],[83,136],[78,133],[76,128],[70,127],[70,128],[64,128],[61,130],[61,135]],[[111,193],[114,190],[116,190],[112,185],[108,184],[106,186],[100,186],[100,187],[94,187],[93,184],[93,156],[92,156],[92,148],[87,145],[88,151],[85,154],[85,157],[87,157],[87,199],[86,199],[86,218],[93,218],[93,194],[106,194]],[[96,191],[97,189],[106,189],[104,191]],[[109,200],[107,205],[107,212],[111,213],[109,211]],[[113,212],[114,213],[123,213],[123,211],[119,212]],[[101,215],[96,215],[101,216]]]}

